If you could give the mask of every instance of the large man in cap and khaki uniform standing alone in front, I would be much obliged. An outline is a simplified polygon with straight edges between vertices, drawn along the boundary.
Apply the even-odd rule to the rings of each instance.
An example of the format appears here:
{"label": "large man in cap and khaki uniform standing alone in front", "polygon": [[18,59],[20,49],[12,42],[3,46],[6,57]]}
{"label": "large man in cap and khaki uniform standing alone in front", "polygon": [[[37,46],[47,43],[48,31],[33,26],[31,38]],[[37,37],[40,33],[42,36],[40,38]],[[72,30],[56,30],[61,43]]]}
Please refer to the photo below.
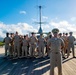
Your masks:
{"label": "large man in cap and khaki uniform standing alone in front", "polygon": [[58,75],[62,75],[62,54],[61,46],[64,47],[64,41],[58,37],[59,30],[52,30],[53,37],[47,42],[47,48],[50,47],[50,75],[54,75],[54,68],[57,65]]}

